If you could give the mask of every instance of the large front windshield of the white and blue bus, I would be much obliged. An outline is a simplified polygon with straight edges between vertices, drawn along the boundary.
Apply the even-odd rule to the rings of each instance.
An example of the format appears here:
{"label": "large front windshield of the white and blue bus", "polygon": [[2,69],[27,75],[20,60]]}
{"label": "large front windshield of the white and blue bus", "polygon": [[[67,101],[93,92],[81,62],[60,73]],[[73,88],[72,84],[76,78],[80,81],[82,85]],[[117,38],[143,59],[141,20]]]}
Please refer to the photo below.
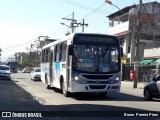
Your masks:
{"label": "large front windshield of the white and blue bus", "polygon": [[90,73],[119,72],[119,48],[74,45],[73,68]]}

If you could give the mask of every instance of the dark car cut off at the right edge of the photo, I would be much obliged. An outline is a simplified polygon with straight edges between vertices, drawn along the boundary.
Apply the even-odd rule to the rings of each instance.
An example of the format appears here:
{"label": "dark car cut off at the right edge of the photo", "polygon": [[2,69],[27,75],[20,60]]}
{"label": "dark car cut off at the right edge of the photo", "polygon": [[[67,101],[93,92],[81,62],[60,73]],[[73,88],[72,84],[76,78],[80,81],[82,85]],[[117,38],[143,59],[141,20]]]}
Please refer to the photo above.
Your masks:
{"label": "dark car cut off at the right edge of the photo", "polygon": [[143,91],[145,100],[152,100],[152,98],[160,98],[160,75],[153,78],[145,87]]}

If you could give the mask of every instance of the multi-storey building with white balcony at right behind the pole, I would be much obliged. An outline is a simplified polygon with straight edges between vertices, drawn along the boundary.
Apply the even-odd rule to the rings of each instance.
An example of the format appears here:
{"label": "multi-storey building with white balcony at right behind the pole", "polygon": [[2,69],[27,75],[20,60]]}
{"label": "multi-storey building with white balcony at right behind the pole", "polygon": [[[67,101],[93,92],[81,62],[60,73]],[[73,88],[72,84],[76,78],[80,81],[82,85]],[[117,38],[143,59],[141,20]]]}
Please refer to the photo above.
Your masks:
{"label": "multi-storey building with white balcony at right behind the pole", "polygon": [[[127,6],[113,14],[109,18],[107,34],[117,35],[122,43],[123,62],[134,62],[153,57],[160,58],[160,3],[143,3]],[[137,26],[139,19],[140,26]],[[138,57],[135,55],[135,45],[139,33]],[[156,50],[157,49],[157,50]]]}

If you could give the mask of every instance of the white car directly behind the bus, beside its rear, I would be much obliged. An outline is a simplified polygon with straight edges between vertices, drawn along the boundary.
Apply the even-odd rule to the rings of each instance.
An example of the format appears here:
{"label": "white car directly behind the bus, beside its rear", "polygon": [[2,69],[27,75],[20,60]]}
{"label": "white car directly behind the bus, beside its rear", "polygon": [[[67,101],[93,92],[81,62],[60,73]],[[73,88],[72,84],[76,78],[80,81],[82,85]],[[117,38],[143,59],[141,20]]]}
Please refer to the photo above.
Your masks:
{"label": "white car directly behind the bus, beside its rear", "polygon": [[31,80],[41,80],[41,68],[34,67],[30,74]]}

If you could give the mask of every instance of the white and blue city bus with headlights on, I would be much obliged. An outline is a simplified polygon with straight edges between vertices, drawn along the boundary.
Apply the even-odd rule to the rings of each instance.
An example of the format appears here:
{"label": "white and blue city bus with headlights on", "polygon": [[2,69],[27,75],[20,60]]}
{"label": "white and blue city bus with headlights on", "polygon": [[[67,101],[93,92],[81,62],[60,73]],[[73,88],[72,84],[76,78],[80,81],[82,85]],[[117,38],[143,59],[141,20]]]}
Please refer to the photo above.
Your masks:
{"label": "white and blue city bus with headlights on", "polygon": [[105,96],[120,90],[122,55],[116,36],[74,33],[42,48],[41,79],[46,88],[59,88],[64,96]]}

